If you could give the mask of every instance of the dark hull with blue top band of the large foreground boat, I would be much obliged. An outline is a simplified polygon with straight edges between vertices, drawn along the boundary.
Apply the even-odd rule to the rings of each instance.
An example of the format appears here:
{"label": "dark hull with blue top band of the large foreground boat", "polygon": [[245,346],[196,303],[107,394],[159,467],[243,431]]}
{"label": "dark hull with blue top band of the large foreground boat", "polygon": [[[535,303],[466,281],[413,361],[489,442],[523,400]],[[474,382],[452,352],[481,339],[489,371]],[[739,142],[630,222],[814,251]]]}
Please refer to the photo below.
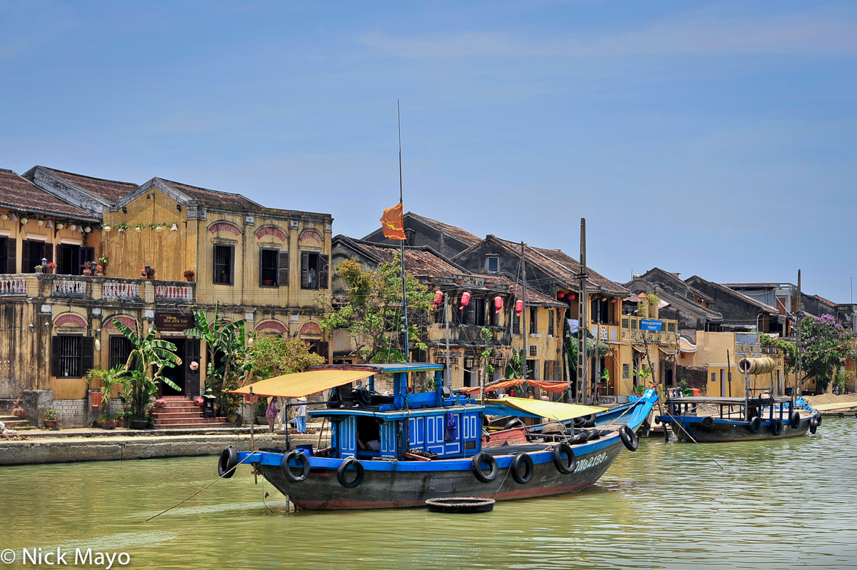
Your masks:
{"label": "dark hull with blue top band of the large foreground boat", "polygon": [[[607,471],[623,445],[617,435],[575,446],[578,468],[563,474],[554,467],[552,451],[528,453],[533,459],[533,474],[528,483],[517,483],[510,473],[512,455],[500,448],[486,448],[498,463],[497,477],[482,483],[470,471],[470,459],[429,462],[362,461],[363,483],[346,489],[337,480],[339,459],[311,459],[309,477],[292,483],[279,465],[255,464],[258,471],[305,509],[361,509],[423,507],[427,499],[455,496],[491,497],[497,501],[561,495],[590,486]],[[315,463],[315,465],[313,465]]]}

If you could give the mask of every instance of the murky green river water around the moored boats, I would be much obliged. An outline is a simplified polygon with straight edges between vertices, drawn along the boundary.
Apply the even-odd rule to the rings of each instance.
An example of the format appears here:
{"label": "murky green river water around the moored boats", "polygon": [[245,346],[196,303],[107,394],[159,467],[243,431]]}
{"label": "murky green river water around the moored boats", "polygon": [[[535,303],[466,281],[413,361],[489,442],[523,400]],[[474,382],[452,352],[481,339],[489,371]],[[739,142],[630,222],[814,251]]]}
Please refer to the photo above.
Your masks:
{"label": "murky green river water around the moored boats", "polygon": [[17,557],[0,568],[39,547],[69,567],[93,549],[128,568],[857,568],[855,439],[857,419],[825,417],[791,440],[644,440],[590,489],[473,515],[287,515],[246,468],[145,523],[217,459],[0,467],[0,549]]}

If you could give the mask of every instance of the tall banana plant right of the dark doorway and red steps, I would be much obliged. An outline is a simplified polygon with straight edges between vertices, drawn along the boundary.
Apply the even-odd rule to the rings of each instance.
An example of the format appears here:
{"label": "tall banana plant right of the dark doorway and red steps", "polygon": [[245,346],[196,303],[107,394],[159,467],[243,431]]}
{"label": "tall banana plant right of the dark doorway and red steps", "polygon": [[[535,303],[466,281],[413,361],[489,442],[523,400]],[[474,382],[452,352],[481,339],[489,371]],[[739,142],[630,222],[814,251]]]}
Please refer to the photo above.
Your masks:
{"label": "tall banana plant right of the dark doorway and red steps", "polygon": [[228,416],[236,411],[241,396],[229,393],[236,389],[246,372],[244,344],[244,319],[228,322],[219,316],[219,303],[214,307],[211,321],[205,311],[194,313],[194,327],[185,334],[206,342],[208,366],[206,370],[206,392],[218,400],[218,411]]}

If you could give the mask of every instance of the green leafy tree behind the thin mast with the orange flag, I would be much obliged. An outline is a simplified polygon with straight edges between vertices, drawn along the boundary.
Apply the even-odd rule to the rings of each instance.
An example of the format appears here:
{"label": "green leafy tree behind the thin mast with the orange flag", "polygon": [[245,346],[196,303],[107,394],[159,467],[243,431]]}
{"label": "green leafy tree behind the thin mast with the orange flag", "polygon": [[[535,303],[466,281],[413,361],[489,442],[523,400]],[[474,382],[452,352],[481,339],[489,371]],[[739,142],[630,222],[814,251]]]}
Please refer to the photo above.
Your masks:
{"label": "green leafy tree behind the thin mast with the orange flag", "polygon": [[[334,305],[327,300],[321,328],[344,329],[351,333],[363,363],[390,362],[404,356],[405,347],[399,334],[404,327],[400,259],[397,253],[392,262],[381,263],[374,270],[363,269],[357,261],[345,260],[335,269],[347,288],[345,303]],[[409,340],[417,349],[425,350],[417,319],[413,317],[433,308],[433,296],[428,287],[412,275],[405,276],[405,291]]]}

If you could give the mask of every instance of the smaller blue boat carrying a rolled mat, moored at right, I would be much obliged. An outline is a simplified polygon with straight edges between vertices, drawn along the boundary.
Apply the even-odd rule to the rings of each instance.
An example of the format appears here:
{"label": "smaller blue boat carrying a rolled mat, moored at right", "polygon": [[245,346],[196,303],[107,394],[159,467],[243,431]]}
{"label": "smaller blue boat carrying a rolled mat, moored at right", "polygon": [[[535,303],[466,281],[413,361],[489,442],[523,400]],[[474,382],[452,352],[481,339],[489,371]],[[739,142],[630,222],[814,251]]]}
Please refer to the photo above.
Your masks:
{"label": "smaller blue boat carrying a rolled mat, moored at right", "polygon": [[815,433],[821,414],[803,401],[761,394],[746,398],[668,398],[656,417],[678,441],[774,440]]}

